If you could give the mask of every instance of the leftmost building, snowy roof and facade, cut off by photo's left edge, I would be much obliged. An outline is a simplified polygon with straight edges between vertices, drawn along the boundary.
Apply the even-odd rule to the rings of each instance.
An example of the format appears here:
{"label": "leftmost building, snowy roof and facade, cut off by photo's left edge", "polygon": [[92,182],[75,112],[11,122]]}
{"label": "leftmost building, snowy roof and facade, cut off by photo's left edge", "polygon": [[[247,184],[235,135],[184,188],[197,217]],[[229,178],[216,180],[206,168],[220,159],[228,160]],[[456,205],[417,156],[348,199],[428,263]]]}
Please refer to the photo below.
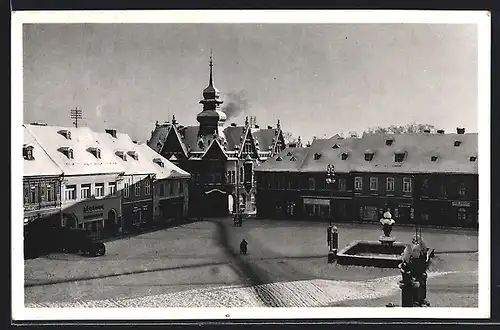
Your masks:
{"label": "leftmost building, snowy roof and facade, cut off by photo's left edge", "polygon": [[62,170],[50,159],[31,133],[23,127],[24,224],[43,221],[47,226],[61,223]]}

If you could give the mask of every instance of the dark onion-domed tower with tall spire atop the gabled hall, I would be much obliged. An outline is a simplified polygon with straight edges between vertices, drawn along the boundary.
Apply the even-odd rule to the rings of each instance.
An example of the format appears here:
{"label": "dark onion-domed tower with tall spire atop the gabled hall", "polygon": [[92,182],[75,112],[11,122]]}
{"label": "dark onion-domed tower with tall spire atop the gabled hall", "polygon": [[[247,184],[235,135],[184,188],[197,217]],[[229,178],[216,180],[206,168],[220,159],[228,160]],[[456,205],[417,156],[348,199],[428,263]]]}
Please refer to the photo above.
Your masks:
{"label": "dark onion-domed tower with tall spire atop the gabled hall", "polygon": [[199,136],[220,135],[219,127],[222,127],[227,118],[226,114],[220,110],[223,101],[220,99],[220,92],[214,86],[213,66],[212,53],[210,53],[210,77],[207,88],[203,90],[203,100],[200,101],[200,104],[203,104],[203,110],[196,116],[200,123]]}

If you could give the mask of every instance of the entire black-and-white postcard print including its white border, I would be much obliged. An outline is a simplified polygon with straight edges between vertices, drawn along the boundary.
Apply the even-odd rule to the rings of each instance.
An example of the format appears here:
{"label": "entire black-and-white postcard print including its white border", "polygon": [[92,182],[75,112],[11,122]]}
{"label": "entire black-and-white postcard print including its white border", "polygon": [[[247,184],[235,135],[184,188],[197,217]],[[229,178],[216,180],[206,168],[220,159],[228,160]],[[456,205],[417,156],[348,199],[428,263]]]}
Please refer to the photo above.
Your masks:
{"label": "entire black-and-white postcard print including its white border", "polygon": [[486,317],[483,16],[248,15],[16,25],[13,305],[47,320]]}

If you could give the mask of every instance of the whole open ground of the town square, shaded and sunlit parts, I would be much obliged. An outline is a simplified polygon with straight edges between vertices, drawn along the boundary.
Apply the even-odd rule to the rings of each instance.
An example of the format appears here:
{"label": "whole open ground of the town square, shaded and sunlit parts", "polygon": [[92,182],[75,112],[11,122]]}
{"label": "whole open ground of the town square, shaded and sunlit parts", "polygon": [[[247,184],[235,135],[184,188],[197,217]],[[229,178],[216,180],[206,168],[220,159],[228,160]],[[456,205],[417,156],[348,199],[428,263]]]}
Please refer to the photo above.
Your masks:
{"label": "whole open ground of the town square, shaded and sunlit parts", "polygon": [[[379,226],[338,227],[340,247],[381,235]],[[399,301],[397,269],[328,264],[325,234],[324,223],[249,220],[234,227],[230,219],[215,219],[110,242],[108,254],[100,258],[27,260],[25,302],[32,307],[61,302],[75,307],[293,307]],[[413,230],[395,228],[394,234],[405,241]],[[472,307],[474,298],[477,304],[477,232],[424,229],[423,236],[438,252],[431,270],[452,283],[441,286],[441,293],[465,283],[443,274],[468,274],[468,298],[441,299],[441,305],[468,301]],[[242,238],[249,242],[246,256],[237,253]]]}

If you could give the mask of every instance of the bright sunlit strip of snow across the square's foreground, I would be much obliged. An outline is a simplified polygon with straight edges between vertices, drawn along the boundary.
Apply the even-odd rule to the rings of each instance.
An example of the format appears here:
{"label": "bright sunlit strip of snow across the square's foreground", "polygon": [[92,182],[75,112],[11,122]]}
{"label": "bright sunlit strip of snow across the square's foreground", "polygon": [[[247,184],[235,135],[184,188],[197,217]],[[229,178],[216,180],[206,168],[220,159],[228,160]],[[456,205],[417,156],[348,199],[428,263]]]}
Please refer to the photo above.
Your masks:
{"label": "bright sunlit strip of snow across the square's foreground", "polygon": [[[429,282],[434,277],[453,273],[456,272],[430,273]],[[271,293],[275,300],[279,301],[278,307],[319,307],[342,301],[370,300],[394,295],[399,291],[399,280],[400,276],[387,276],[360,282],[308,280],[258,286],[232,285],[131,299],[32,303],[26,307],[265,307],[257,295],[257,290]]]}

